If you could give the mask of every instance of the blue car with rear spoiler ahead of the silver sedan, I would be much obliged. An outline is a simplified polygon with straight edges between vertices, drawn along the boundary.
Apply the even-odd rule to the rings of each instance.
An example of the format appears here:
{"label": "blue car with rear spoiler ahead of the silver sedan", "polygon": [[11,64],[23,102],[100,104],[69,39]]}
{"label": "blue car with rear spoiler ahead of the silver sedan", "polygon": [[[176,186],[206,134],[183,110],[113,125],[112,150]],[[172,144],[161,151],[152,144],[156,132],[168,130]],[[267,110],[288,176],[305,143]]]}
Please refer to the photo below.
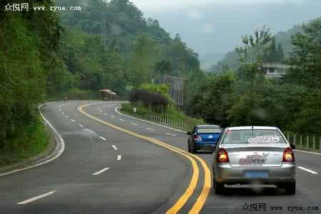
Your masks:
{"label": "blue car with rear spoiler ahead of the silver sedan", "polygon": [[188,131],[188,152],[198,150],[213,151],[223,129],[217,125],[198,125],[193,131]]}

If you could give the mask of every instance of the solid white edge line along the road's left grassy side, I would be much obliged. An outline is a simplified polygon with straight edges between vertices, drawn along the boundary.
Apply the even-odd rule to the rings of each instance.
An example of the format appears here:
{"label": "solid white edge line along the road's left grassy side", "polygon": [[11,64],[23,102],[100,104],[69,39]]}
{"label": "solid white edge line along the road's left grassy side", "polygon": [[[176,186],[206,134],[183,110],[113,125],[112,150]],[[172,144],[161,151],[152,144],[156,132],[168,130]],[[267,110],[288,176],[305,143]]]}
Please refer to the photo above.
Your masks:
{"label": "solid white edge line along the road's left grassy side", "polygon": [[[51,103],[56,103],[56,102],[51,102]],[[46,103],[46,104],[49,104],[49,103]],[[40,105],[39,106],[39,109],[44,106],[44,104]],[[49,158],[48,160],[44,161],[44,162],[41,162],[41,163],[37,163],[36,165],[31,165],[29,167],[26,167],[26,168],[19,168],[19,169],[16,169],[16,170],[13,170],[13,171],[10,171],[8,173],[2,173],[0,174],[0,176],[4,176],[4,175],[9,175],[9,174],[12,174],[12,173],[16,173],[16,172],[19,172],[19,171],[22,171],[22,170],[26,170],[26,169],[29,169],[29,168],[34,168],[36,166],[39,166],[39,165],[44,165],[45,163],[49,163],[51,161],[54,161],[56,160],[59,156],[61,156],[61,154],[63,153],[63,151],[65,150],[65,141],[63,141],[63,138],[61,137],[61,135],[58,133],[58,131],[56,130],[56,128],[54,128],[54,126],[51,125],[51,123],[49,123],[49,121],[47,121],[47,119],[44,117],[44,115],[39,111],[41,117],[44,119],[44,121],[47,123],[47,125],[51,128],[52,131],[54,131],[55,133],[55,138],[56,138],[56,141],[57,144],[56,144],[56,148],[55,148],[55,151],[58,149],[58,146],[60,146],[60,149],[58,151],[58,153],[56,153],[56,156],[52,157],[52,158]]]}

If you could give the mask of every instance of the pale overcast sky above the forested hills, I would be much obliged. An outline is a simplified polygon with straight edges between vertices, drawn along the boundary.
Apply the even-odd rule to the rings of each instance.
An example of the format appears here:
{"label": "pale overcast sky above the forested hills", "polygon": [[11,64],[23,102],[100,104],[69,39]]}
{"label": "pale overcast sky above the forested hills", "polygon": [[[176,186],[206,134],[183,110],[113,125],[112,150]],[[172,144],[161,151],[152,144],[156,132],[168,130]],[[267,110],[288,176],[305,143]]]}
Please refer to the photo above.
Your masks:
{"label": "pale overcast sky above the forested hills", "polygon": [[200,56],[225,53],[265,24],[272,32],[321,16],[321,0],[131,0]]}

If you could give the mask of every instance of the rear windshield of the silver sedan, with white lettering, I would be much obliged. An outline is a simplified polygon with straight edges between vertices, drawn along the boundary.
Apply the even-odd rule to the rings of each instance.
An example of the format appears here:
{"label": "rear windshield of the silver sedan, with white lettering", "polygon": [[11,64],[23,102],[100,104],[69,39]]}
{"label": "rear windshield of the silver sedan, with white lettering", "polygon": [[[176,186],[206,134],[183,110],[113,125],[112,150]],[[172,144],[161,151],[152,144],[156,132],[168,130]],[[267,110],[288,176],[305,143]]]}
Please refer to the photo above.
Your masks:
{"label": "rear windshield of the silver sedan, with white lettering", "polygon": [[277,130],[230,130],[223,139],[223,144],[230,143],[286,143]]}

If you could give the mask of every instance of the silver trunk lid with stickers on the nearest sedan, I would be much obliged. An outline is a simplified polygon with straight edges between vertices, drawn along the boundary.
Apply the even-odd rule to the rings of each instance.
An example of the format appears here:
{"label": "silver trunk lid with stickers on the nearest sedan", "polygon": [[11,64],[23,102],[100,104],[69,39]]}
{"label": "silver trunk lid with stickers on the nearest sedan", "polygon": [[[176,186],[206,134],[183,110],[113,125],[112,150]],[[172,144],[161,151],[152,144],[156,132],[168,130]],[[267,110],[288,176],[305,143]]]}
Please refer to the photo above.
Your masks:
{"label": "silver trunk lid with stickers on the nearest sedan", "polygon": [[255,143],[250,144],[227,144],[221,145],[228,152],[230,166],[257,168],[281,166],[283,152],[287,148],[286,144],[268,145]]}

